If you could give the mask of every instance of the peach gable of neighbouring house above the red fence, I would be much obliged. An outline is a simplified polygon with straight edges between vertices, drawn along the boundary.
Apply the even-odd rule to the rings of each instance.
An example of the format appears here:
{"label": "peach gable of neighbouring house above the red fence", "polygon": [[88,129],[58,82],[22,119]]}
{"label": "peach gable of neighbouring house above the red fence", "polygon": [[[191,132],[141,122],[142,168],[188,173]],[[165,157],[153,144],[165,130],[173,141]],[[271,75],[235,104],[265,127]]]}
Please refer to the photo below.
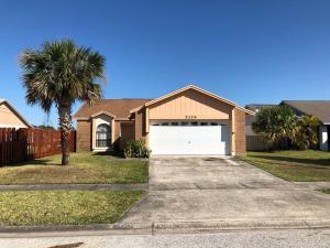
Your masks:
{"label": "peach gable of neighbouring house above the red fence", "polygon": [[30,128],[28,120],[6,99],[0,99],[0,128]]}

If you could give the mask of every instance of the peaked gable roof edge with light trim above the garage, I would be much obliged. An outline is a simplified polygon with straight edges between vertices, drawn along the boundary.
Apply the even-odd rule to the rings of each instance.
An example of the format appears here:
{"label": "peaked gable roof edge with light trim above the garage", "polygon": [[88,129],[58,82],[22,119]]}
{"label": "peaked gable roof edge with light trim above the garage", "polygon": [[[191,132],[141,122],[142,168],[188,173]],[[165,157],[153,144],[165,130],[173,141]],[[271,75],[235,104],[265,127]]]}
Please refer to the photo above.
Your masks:
{"label": "peaked gable roof edge with light trim above the garage", "polygon": [[251,110],[249,110],[249,109],[246,109],[246,108],[243,108],[243,107],[239,106],[238,104],[235,104],[235,103],[233,103],[233,101],[231,101],[231,100],[228,100],[228,99],[222,98],[222,97],[220,97],[220,96],[218,96],[218,95],[216,95],[216,94],[212,94],[212,93],[207,91],[207,90],[205,90],[205,89],[202,89],[202,88],[199,88],[199,87],[197,87],[197,86],[195,86],[195,85],[188,85],[188,86],[186,86],[186,87],[184,87],[184,88],[180,88],[180,89],[178,89],[178,90],[175,90],[175,91],[173,91],[173,93],[169,93],[169,94],[167,94],[167,95],[165,95],[165,96],[162,96],[162,97],[160,97],[160,98],[157,98],[157,99],[150,100],[150,101],[145,103],[144,105],[142,105],[142,106],[138,107],[138,108],[132,109],[132,110],[130,111],[130,114],[134,114],[135,111],[138,111],[139,109],[141,109],[141,108],[143,108],[143,107],[150,107],[150,106],[152,106],[152,105],[154,105],[154,104],[157,104],[157,103],[160,103],[160,101],[162,101],[162,100],[164,100],[164,99],[166,99],[166,98],[169,98],[169,97],[172,97],[172,96],[178,95],[178,94],[184,93],[184,91],[189,90],[189,89],[194,89],[194,90],[196,90],[196,91],[199,91],[199,93],[201,93],[201,94],[205,94],[205,95],[207,95],[207,96],[209,96],[209,97],[215,98],[216,100],[223,101],[223,103],[226,103],[226,104],[229,104],[229,105],[231,105],[231,106],[234,106],[234,107],[239,108],[240,110],[242,110],[242,111],[244,111],[244,112],[246,112],[246,114],[249,114],[249,115],[254,116],[254,112],[253,112],[253,111],[251,111]]}

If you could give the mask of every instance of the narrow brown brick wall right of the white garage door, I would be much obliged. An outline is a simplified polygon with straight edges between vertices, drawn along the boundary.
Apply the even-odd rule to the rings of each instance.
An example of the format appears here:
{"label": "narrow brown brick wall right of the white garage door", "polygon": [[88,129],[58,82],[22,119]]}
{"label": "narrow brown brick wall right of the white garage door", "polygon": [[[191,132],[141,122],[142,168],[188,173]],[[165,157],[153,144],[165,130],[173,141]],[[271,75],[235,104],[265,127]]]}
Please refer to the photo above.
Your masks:
{"label": "narrow brown brick wall right of the white garage door", "polygon": [[245,112],[235,109],[235,153],[238,155],[246,153],[246,126]]}

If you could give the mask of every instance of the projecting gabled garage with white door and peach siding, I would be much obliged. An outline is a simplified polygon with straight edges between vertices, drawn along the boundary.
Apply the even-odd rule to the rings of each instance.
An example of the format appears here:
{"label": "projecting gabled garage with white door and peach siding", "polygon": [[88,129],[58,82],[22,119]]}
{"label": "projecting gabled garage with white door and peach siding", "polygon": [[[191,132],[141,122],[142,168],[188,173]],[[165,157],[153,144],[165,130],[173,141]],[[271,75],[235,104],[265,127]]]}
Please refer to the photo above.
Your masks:
{"label": "projecting gabled garage with white door and peach siding", "polygon": [[245,116],[254,112],[189,85],[130,110],[134,139],[152,155],[245,154]]}

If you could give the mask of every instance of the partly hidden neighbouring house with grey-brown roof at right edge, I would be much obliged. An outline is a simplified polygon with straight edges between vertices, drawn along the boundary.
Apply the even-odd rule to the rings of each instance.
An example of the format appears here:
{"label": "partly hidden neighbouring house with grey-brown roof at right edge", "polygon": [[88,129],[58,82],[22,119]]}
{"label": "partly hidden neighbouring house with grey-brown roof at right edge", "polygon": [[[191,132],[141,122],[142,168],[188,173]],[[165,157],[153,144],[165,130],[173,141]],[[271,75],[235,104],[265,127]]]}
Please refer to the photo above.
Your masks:
{"label": "partly hidden neighbouring house with grey-brown roof at right edge", "polygon": [[321,122],[319,147],[323,151],[329,151],[330,100],[283,100],[279,105],[292,108],[297,116],[316,116]]}

